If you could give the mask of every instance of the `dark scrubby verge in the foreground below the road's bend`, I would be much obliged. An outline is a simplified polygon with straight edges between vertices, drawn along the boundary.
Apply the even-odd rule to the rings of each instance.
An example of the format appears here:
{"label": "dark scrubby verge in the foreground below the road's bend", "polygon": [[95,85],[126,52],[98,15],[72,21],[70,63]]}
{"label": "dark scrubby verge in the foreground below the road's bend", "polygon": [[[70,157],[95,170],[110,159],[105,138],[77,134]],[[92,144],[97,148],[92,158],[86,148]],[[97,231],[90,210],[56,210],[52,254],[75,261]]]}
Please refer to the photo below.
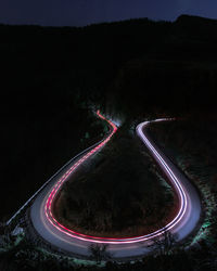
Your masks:
{"label": "dark scrubby verge in the foreground below the road's bend", "polygon": [[[76,262],[75,259],[65,256],[56,256],[48,254],[39,247],[33,246],[24,238],[17,246],[12,247],[8,251],[0,250],[0,269],[4,271],[16,270],[63,270],[63,271],[203,271],[216,270],[217,250],[214,247],[203,244],[201,248],[186,250],[181,247],[171,249],[167,253],[167,241],[165,246],[161,245],[161,249],[155,256],[150,255],[141,260],[131,260],[128,262],[114,262],[108,260],[95,264],[93,261]],[[162,242],[164,244],[164,241]],[[163,250],[162,250],[163,248]],[[165,249],[166,248],[166,249]],[[95,248],[94,248],[95,250]],[[97,250],[99,250],[97,248]],[[105,249],[106,253],[106,249]],[[104,253],[103,253],[104,255]],[[100,257],[101,259],[101,257]]]}

